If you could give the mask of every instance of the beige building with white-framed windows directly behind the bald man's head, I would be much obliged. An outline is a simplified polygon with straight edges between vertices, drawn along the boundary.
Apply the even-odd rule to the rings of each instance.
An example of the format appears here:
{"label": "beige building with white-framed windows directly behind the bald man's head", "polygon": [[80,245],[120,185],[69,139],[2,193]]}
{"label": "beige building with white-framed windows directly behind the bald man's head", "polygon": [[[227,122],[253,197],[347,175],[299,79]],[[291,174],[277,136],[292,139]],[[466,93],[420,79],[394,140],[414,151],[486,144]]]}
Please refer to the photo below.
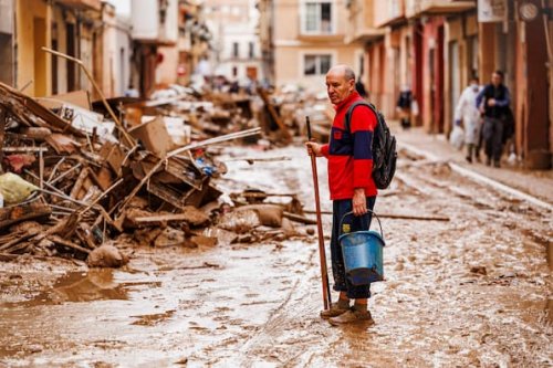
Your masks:
{"label": "beige building with white-framed windows directly behind the bald man's head", "polygon": [[363,49],[346,44],[347,9],[337,0],[272,3],[274,85],[324,90],[322,76],[335,64],[363,65]]}

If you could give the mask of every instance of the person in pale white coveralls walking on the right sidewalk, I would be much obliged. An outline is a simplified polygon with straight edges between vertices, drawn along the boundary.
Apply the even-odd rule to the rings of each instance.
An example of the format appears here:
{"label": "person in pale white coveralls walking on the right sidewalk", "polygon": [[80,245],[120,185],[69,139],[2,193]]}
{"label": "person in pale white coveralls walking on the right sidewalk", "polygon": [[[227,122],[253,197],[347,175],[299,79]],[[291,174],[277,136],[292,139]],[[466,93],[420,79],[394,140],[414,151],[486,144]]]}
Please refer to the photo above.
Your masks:
{"label": "person in pale white coveralls walking on the right sidewalk", "polygon": [[481,129],[480,111],[477,107],[477,96],[480,92],[478,78],[470,78],[470,84],[461,93],[461,97],[455,109],[455,125],[460,126],[461,120],[465,128],[465,144],[467,145],[467,161],[472,162],[472,157],[478,161],[479,157],[479,139]]}

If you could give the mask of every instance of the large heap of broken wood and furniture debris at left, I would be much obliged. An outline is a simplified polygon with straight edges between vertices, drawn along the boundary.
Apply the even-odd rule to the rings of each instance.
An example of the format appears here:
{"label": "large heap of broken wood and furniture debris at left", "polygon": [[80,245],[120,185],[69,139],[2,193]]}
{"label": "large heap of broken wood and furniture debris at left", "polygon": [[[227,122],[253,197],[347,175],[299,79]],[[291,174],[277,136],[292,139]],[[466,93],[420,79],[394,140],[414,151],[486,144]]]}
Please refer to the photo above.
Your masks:
{"label": "large heap of broken wood and furniture debris at left", "polygon": [[88,255],[122,239],[198,246],[276,236],[253,230],[286,227],[291,209],[230,211],[217,201],[211,179],[226,167],[205,148],[259,137],[249,103],[207,102],[184,87],[155,97],[104,99],[92,109],[85,92],[33,99],[0,83],[0,260],[32,253],[98,265]]}

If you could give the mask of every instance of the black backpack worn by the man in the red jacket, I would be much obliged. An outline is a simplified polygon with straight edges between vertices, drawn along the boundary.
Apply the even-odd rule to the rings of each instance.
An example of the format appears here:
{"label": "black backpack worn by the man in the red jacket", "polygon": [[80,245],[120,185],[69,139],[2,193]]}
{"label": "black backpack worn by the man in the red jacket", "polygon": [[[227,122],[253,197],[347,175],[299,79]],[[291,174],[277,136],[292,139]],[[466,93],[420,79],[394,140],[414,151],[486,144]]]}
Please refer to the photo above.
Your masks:
{"label": "black backpack worn by the man in the red jacket", "polygon": [[377,124],[373,133],[373,180],[376,188],[389,187],[396,172],[396,137],[389,132],[384,115],[371,103],[357,101],[349,106],[345,116],[344,127],[349,132],[353,109],[359,105],[367,106],[376,115]]}

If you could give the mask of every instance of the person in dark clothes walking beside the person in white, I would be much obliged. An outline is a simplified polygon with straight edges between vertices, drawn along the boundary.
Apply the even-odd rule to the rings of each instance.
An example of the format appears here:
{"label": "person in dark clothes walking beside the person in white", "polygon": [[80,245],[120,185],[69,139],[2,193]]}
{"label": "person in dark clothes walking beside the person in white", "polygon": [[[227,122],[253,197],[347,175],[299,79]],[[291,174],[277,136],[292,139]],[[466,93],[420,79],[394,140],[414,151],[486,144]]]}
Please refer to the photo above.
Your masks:
{"label": "person in dark clothes walking beside the person in white", "polygon": [[503,125],[510,102],[509,90],[503,85],[503,72],[493,72],[491,83],[483,87],[476,99],[476,106],[484,117],[482,137],[488,166],[493,160],[493,166],[500,167],[503,151]]}

